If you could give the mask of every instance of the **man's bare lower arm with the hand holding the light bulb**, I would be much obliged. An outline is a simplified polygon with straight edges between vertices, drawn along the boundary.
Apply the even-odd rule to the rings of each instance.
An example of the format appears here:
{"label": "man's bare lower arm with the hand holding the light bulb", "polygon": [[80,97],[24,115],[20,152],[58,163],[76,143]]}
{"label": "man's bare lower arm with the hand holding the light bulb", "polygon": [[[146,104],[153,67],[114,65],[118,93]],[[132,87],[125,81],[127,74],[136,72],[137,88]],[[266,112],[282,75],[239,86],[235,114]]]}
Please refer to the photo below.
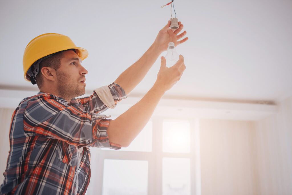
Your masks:
{"label": "man's bare lower arm with the hand holding the light bulb", "polygon": [[166,67],[165,58],[161,57],[161,67],[153,87],[134,106],[110,121],[107,128],[109,141],[127,147],[145,127],[164,92],[180,80],[184,70],[182,55],[171,68]]}

